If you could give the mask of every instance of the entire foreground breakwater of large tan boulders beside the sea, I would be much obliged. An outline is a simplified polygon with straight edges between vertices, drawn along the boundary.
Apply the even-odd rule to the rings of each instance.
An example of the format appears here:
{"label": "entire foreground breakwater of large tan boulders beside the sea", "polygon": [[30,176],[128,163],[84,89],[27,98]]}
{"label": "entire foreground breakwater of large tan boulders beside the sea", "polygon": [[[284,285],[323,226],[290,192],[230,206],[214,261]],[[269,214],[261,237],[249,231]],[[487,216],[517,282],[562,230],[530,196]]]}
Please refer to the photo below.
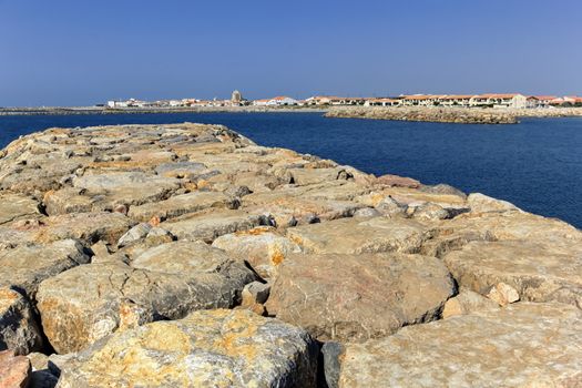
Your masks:
{"label": "entire foreground breakwater of large tan boulders beside the sea", "polygon": [[0,156],[0,387],[582,384],[561,221],[219,125]]}

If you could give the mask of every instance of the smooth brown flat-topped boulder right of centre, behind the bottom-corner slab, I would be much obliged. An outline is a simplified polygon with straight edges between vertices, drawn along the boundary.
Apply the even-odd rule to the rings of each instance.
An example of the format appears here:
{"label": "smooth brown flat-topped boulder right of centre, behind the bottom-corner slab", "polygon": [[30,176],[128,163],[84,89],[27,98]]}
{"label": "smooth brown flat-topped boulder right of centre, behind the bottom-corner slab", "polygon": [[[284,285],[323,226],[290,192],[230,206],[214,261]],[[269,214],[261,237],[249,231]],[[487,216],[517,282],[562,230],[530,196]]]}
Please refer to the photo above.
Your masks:
{"label": "smooth brown flat-topped boulder right of centre, behind the bottom-corner slab", "polygon": [[435,257],[299,254],[278,268],[267,309],[319,339],[354,341],[437,319],[453,293]]}

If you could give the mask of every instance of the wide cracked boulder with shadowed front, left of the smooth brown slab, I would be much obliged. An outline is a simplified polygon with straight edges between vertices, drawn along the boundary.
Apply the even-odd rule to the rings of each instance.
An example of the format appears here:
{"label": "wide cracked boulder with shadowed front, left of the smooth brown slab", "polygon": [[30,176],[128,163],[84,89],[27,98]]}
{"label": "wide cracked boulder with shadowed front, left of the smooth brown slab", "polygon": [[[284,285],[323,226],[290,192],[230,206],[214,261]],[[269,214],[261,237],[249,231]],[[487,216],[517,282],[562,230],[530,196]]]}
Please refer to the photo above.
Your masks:
{"label": "wide cracked boulder with shadowed front, left of the smooth brown slab", "polygon": [[44,280],[37,299],[51,345],[70,353],[119,329],[233,307],[254,279],[221,249],[175,242],[144,252],[132,266],[106,262],[64,272]]}

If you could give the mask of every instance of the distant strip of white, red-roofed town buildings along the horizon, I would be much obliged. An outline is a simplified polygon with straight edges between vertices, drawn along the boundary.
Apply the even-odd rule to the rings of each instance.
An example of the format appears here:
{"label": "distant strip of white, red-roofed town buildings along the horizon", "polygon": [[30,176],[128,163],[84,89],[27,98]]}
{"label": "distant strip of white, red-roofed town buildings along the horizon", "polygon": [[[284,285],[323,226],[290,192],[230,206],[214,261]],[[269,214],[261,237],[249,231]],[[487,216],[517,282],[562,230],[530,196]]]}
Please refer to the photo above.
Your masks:
{"label": "distant strip of white, red-roofed town buildings along the horizon", "polygon": [[459,108],[551,108],[582,106],[582,96],[524,95],[521,93],[489,94],[409,94],[390,98],[346,98],[315,95],[297,100],[286,95],[246,100],[235,90],[228,100],[111,100],[106,108],[196,108],[196,106],[459,106]]}

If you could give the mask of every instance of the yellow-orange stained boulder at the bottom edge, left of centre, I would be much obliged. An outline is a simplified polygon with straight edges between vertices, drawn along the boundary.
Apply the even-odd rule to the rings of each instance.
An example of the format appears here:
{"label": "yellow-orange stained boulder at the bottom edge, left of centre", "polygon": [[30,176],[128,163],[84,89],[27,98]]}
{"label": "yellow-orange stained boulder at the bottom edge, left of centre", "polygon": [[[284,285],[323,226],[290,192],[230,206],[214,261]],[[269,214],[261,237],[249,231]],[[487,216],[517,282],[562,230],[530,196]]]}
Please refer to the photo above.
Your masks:
{"label": "yellow-orange stained boulder at the bottom edge, left of centre", "polygon": [[316,369],[306,331],[218,309],[115,334],[65,364],[59,387],[309,388]]}

